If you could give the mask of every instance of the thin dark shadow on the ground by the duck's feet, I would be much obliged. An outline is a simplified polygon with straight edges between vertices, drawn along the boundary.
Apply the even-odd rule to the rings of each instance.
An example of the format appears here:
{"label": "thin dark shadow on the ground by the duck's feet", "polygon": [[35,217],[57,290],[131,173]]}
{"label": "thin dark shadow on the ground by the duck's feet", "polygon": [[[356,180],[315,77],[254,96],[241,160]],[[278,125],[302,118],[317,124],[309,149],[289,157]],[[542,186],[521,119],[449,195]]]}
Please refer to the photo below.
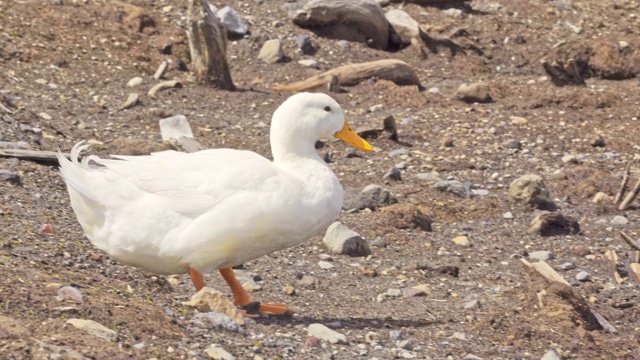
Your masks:
{"label": "thin dark shadow on the ground by the duck's feet", "polygon": [[330,318],[330,317],[313,317],[313,316],[261,316],[255,319],[257,323],[263,325],[309,325],[313,323],[325,324],[331,327],[332,323],[340,329],[381,329],[381,328],[399,328],[399,327],[426,327],[440,324],[440,320],[404,320],[404,319],[388,319],[384,317],[372,318]]}

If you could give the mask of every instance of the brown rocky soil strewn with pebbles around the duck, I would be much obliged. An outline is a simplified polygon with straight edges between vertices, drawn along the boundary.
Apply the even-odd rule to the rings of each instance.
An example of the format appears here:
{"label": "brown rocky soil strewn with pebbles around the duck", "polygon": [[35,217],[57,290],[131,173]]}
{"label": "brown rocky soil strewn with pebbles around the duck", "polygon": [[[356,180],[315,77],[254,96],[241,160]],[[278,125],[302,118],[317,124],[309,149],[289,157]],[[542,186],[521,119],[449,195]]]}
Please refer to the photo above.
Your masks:
{"label": "brown rocky soil strewn with pebbles around the duck", "polygon": [[[55,163],[0,158],[3,358],[640,359],[638,260],[619,234],[640,239],[640,202],[613,201],[630,161],[629,187],[640,179],[637,1],[381,1],[460,45],[435,52],[320,36],[290,20],[300,1],[213,2],[249,24],[227,44],[235,92],[193,81],[186,3],[0,0],[0,149],[87,140],[101,156],[145,154],[170,147],[158,121],[184,115],[207,147],[269,156],[270,116],[289,96],[273,86],[400,59],[422,91],[372,78],[331,93],[356,129],[393,116],[397,140],[373,131],[374,153],[319,149],[348,194],[339,220],[366,244],[334,253],[321,234],[246,263],[251,295],[296,313],[240,326],[185,305],[188,276],[93,248]],[[276,63],[258,58],[269,39]],[[573,61],[585,84],[554,85],[542,60]],[[149,96],[164,80],[181,86]],[[488,102],[460,99],[465,83]],[[510,192],[523,175],[539,178]],[[206,281],[231,296],[219,274]]]}

